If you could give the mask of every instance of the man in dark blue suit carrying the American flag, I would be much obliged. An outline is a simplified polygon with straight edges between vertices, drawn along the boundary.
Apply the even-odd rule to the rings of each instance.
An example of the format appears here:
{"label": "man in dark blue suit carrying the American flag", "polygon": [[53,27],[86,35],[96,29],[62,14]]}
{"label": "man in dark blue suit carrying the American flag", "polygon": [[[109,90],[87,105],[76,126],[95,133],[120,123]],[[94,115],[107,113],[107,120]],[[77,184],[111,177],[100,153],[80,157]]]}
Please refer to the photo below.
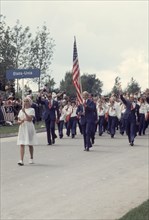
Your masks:
{"label": "man in dark blue suit carrying the American flag", "polygon": [[81,117],[80,123],[82,126],[82,133],[84,139],[84,150],[89,151],[92,147],[91,134],[94,129],[94,103],[89,99],[89,93],[84,91],[82,93],[83,104],[80,104],[77,109],[77,114]]}

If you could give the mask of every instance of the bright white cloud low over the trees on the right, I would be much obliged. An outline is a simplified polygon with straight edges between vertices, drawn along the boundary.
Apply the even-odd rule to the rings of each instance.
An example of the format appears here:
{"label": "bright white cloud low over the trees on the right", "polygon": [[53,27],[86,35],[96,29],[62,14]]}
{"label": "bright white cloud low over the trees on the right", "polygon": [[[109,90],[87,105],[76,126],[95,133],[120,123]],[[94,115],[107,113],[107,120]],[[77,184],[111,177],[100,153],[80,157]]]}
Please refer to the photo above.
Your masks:
{"label": "bright white cloud low over the trees on the right", "polygon": [[147,57],[141,50],[125,51],[121,63],[111,69],[89,69],[84,72],[96,74],[96,77],[104,83],[103,94],[111,91],[117,76],[121,79],[122,89],[126,89],[132,77],[141,86],[142,91],[149,87]]}

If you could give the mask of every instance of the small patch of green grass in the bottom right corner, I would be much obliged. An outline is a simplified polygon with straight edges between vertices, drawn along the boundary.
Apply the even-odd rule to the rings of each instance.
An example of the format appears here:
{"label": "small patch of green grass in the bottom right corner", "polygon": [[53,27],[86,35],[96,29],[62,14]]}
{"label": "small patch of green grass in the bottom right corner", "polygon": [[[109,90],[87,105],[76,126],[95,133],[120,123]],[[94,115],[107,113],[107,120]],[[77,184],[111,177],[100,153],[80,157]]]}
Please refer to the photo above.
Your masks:
{"label": "small patch of green grass in the bottom right corner", "polygon": [[130,210],[119,220],[149,220],[149,200]]}

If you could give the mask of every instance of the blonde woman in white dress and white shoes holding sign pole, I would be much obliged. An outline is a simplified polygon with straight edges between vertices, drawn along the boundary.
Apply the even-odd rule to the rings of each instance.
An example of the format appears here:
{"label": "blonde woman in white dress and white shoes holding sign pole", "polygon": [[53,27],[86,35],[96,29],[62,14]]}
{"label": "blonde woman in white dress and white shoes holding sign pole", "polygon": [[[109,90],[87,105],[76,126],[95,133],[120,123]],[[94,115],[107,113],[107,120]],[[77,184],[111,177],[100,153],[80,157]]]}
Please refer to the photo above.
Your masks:
{"label": "blonde woman in white dress and white shoes holding sign pole", "polygon": [[20,145],[20,161],[18,165],[23,166],[23,159],[25,153],[25,145],[29,146],[30,160],[29,163],[33,163],[33,145],[37,145],[36,131],[33,124],[33,118],[35,117],[35,110],[31,108],[32,100],[26,97],[23,101],[23,107],[18,114],[19,132],[17,145]]}

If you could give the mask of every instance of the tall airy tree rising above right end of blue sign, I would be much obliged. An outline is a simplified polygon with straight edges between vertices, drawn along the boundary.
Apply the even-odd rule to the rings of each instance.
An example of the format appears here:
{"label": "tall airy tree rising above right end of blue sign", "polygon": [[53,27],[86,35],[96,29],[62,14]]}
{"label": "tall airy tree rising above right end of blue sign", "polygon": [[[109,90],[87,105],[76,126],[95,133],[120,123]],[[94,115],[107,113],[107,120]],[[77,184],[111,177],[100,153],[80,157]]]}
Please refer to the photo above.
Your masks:
{"label": "tall airy tree rising above right end of blue sign", "polygon": [[41,30],[38,27],[36,36],[30,44],[28,65],[40,69],[40,78],[34,79],[34,82],[38,82],[39,89],[46,83],[54,46],[54,40],[50,37],[47,27],[43,25]]}

